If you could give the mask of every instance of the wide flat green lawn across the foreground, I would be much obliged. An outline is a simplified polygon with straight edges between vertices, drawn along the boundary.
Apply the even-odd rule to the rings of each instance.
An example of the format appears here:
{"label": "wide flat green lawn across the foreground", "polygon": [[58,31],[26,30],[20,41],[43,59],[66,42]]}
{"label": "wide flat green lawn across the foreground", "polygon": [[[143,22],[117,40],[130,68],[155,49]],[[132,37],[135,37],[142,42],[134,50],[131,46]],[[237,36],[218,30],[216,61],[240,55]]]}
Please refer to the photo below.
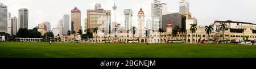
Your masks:
{"label": "wide flat green lawn across the foreground", "polygon": [[0,57],[256,58],[256,46],[235,44],[84,44],[0,42]]}

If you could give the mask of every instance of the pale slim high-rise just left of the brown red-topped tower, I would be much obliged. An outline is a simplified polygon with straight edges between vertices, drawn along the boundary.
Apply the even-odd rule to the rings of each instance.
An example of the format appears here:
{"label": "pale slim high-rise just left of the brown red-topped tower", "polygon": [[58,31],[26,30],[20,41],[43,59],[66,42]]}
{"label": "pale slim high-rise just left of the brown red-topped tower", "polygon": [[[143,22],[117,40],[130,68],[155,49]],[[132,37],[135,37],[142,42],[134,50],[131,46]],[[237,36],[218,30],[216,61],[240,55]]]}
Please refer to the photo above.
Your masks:
{"label": "pale slim high-rise just left of the brown red-topped tower", "polygon": [[64,14],[63,16],[63,34],[67,35],[68,30],[70,26],[69,26],[69,15],[68,14]]}

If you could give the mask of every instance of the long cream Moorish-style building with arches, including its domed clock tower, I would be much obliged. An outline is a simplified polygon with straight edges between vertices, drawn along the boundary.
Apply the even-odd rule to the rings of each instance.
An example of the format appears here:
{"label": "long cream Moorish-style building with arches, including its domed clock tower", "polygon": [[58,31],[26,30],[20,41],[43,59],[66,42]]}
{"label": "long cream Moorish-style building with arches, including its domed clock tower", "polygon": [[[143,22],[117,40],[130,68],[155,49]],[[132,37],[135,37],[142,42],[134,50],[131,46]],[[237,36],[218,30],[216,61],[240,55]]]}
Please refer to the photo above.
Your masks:
{"label": "long cream Moorish-style building with arches, including its domed clock tower", "polygon": [[[223,40],[223,33],[220,30],[220,23],[226,23],[227,29],[224,31],[225,40],[243,40],[243,36],[249,36],[249,40],[256,40],[256,24],[246,23],[240,21],[214,21],[212,33],[207,37],[205,32],[205,25],[197,25],[197,31],[191,33],[189,29],[185,29],[185,33],[177,33],[177,36],[172,36],[172,23],[166,24],[166,30],[163,33],[159,33],[158,30],[146,29],[143,27],[144,24],[144,12],[141,10],[138,12],[138,28],[133,37],[131,31],[117,31],[116,37],[114,32],[110,37],[104,35],[102,32],[97,34],[97,42],[105,42],[111,40],[111,42],[127,43],[128,41],[138,41],[139,43],[166,43],[168,40],[182,40],[185,43],[200,43],[202,40]],[[148,31],[148,37],[146,37],[146,30]],[[193,36],[193,39],[192,39]],[[115,39],[114,39],[115,38]],[[96,35],[90,40],[96,42]]]}

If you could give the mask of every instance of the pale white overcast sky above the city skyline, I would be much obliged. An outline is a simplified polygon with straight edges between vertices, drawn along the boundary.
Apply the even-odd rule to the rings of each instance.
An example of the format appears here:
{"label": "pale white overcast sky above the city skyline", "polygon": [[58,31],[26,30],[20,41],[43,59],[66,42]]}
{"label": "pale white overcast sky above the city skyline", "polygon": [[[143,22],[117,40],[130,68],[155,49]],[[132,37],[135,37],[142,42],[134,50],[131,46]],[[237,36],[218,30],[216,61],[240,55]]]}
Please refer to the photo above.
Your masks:
{"label": "pale white overcast sky above the city skyline", "polygon": [[[153,0],[116,0],[117,22],[124,24],[123,10],[133,10],[133,25],[137,26],[137,13],[143,8],[145,23],[151,19],[150,5]],[[18,16],[19,8],[28,8],[28,28],[34,28],[39,23],[49,21],[54,28],[64,14],[70,14],[74,7],[81,10],[81,26],[84,29],[86,10],[93,9],[96,3],[101,3],[104,10],[112,10],[114,0],[0,0],[8,6],[11,16]],[[179,0],[162,0],[167,3],[168,12],[179,11]],[[190,12],[197,18],[199,25],[209,25],[214,20],[233,20],[256,23],[256,0],[191,0]],[[113,11],[112,11],[113,13]],[[114,18],[114,16],[112,16]],[[114,20],[114,19],[112,19]],[[146,26],[146,25],[145,25]]]}

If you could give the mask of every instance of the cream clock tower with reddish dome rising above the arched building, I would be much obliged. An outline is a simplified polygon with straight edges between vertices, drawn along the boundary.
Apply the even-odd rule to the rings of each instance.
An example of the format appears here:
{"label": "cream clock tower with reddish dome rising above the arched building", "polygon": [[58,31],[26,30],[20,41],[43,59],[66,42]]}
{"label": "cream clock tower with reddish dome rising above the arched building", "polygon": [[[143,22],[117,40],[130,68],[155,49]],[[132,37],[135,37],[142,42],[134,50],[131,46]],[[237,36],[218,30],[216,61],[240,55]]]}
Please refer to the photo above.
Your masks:
{"label": "cream clock tower with reddish dome rising above the arched building", "polygon": [[142,8],[140,9],[140,11],[138,12],[138,34],[139,36],[143,36],[144,35],[144,18],[145,18],[145,15],[144,15],[144,11],[142,11]]}

